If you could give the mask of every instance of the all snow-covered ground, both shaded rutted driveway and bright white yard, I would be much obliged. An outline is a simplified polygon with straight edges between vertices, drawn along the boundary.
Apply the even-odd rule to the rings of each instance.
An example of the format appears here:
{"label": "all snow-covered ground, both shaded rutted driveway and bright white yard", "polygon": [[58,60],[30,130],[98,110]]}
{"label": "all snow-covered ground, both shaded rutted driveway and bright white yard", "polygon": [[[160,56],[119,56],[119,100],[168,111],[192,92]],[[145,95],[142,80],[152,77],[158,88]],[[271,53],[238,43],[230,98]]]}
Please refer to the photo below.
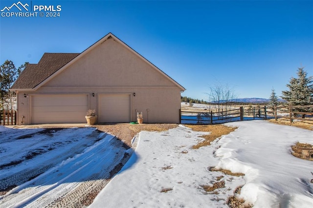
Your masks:
{"label": "all snow-covered ground, both shaded rutted driveway and bright white yard", "polygon": [[[182,125],[142,131],[135,152],[95,128],[0,126],[0,189],[10,190],[0,196],[0,208],[86,207],[100,190],[90,208],[227,208],[227,198],[241,186],[236,195],[256,208],[313,207],[313,161],[291,155],[296,142],[313,145],[313,131],[267,121],[226,125],[239,127],[200,149],[191,146],[207,132]],[[112,169],[128,154],[131,158],[111,180]],[[221,181],[224,187],[212,192],[203,188]]]}

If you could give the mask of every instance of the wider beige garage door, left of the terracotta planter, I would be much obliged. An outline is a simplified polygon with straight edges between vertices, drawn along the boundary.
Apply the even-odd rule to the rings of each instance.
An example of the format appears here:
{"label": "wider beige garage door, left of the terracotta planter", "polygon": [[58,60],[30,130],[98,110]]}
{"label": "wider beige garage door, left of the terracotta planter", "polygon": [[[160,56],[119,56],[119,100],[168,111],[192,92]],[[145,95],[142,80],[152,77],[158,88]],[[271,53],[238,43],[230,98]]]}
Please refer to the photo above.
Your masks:
{"label": "wider beige garage door, left of the terracotta planter", "polygon": [[88,95],[33,95],[31,123],[86,123]]}

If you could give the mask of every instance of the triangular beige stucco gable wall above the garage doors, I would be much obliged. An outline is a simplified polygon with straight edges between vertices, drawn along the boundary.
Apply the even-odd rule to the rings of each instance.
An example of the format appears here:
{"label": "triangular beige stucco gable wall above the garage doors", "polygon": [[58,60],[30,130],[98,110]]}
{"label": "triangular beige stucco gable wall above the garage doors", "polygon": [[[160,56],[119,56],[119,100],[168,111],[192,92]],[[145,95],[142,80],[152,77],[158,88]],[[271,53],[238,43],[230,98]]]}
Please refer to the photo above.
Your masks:
{"label": "triangular beige stucco gable wall above the garage doors", "polygon": [[45,86],[175,86],[113,39],[101,43]]}

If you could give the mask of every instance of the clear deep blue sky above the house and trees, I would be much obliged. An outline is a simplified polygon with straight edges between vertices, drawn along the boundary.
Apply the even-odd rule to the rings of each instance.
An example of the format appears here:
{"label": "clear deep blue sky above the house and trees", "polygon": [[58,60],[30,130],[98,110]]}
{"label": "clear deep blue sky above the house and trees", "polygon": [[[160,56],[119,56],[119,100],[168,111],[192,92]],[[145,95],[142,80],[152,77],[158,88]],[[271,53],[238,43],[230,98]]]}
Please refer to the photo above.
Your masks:
{"label": "clear deep blue sky above the house and trees", "polygon": [[[0,9],[19,0],[1,0]],[[60,17],[0,17],[0,63],[80,53],[112,32],[207,100],[216,82],[239,98],[278,96],[305,66],[313,76],[313,1],[20,0],[61,5]],[[12,8],[11,11],[18,11]]]}

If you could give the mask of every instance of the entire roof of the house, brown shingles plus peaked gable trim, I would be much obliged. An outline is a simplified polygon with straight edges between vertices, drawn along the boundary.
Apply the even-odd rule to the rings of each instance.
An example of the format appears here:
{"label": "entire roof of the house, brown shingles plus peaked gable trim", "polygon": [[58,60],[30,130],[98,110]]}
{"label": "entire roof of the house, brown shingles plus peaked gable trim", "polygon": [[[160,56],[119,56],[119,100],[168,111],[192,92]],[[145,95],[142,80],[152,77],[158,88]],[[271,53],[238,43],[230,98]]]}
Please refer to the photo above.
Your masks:
{"label": "entire roof of the house, brown shingles plus peaked gable trim", "polygon": [[[144,62],[151,65],[159,73],[161,73],[163,76],[165,76],[175,85],[177,85],[181,89],[181,91],[186,90],[183,86],[181,86],[179,83],[177,83],[167,74],[165,74],[162,70],[157,68],[153,63],[149,62],[147,59],[145,59],[143,56],[137,53],[133,48],[131,48],[126,43],[122,42],[117,37],[115,37],[112,33],[108,33],[106,36],[104,36],[102,39],[92,44],[89,48],[87,48],[85,51],[83,51],[80,54],[79,53],[45,53],[42,59],[38,62],[38,64],[28,64],[30,65],[29,68],[27,65],[27,67],[23,70],[23,72],[19,76],[18,80],[11,87],[11,90],[21,90],[21,89],[24,89],[27,91],[37,90],[40,86],[44,85],[45,83],[53,79],[55,76],[60,74],[69,65],[76,62],[78,59],[80,59],[85,54],[87,54],[90,50],[92,50],[99,44],[111,38],[113,38],[116,42],[119,42],[120,44],[125,46],[135,55],[140,57]],[[24,73],[25,70],[26,72]]]}

